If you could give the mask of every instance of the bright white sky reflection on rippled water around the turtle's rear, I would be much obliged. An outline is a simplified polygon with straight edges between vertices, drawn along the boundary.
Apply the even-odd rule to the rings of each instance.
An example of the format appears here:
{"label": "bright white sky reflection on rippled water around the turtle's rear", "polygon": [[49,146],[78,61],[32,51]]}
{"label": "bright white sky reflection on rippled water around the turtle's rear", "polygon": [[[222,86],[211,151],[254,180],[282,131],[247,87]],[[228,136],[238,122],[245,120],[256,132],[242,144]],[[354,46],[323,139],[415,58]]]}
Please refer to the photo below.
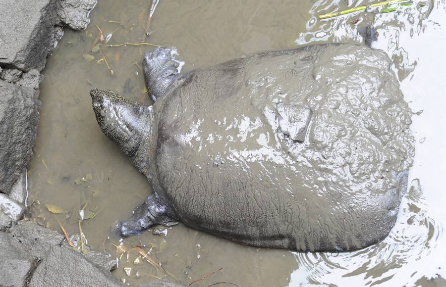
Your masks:
{"label": "bright white sky reflection on rippled water around the turtle's rear", "polygon": [[[339,9],[338,1],[327,2],[318,1],[313,13]],[[401,12],[378,14],[374,21],[379,37],[373,48],[389,54],[412,110],[423,110],[412,117],[411,129],[417,139],[414,166],[395,227],[389,237],[363,250],[338,254],[293,252],[299,268],[291,274],[289,286],[414,286],[422,277],[446,277],[446,212],[442,206],[446,199],[442,182],[446,173],[446,130],[439,124],[446,121],[446,59],[442,55],[446,48],[446,5],[444,1],[419,3],[414,1],[413,8]],[[296,43],[328,39],[342,42],[341,33],[331,32],[343,30],[352,17],[362,16],[327,21],[329,24],[319,27],[310,20],[310,31],[301,34]]]}

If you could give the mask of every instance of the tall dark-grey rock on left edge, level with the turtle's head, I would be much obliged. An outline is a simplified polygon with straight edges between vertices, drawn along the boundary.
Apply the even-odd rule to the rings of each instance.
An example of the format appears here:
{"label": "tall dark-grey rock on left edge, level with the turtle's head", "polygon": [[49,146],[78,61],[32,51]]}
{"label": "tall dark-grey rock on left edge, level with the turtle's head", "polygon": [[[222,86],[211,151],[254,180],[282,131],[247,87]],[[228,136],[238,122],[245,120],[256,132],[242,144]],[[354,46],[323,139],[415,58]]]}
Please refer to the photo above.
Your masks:
{"label": "tall dark-grey rock on left edge, level with the turtle's head", "polygon": [[37,94],[0,80],[0,192],[10,191],[31,157],[41,106]]}

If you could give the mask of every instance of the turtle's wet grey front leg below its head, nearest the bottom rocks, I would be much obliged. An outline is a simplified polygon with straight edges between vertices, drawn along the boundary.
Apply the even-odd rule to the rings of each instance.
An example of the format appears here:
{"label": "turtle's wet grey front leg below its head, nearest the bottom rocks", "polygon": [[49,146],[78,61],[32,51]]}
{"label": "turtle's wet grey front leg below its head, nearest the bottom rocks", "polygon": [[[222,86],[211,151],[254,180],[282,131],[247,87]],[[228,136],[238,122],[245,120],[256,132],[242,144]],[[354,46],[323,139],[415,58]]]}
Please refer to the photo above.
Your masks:
{"label": "turtle's wet grey front leg below its head, nearest the bottom rocks", "polygon": [[155,224],[172,226],[177,223],[173,212],[159,201],[154,192],[146,198],[143,204],[133,210],[128,221],[118,223],[116,228],[122,236],[128,237],[139,234]]}

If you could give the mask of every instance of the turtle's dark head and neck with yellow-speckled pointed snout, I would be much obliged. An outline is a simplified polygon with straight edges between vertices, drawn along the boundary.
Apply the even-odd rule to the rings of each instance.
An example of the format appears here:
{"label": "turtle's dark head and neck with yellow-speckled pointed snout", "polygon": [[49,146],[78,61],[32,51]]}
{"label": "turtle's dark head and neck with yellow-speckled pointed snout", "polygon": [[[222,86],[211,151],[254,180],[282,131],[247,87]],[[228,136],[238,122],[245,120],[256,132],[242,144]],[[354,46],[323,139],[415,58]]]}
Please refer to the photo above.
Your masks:
{"label": "turtle's dark head and neck with yellow-speckled pointed snout", "polygon": [[150,136],[151,107],[125,99],[111,90],[90,92],[96,120],[103,133],[130,158]]}

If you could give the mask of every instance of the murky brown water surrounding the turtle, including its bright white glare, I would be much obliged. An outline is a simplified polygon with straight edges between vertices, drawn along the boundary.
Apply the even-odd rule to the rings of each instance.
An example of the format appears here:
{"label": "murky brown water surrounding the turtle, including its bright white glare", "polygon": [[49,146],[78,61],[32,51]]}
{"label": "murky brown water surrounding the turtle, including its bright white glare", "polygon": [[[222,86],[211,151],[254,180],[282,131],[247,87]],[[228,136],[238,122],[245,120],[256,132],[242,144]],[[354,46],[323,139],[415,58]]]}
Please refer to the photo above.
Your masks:
{"label": "murky brown water surrounding the turtle, including its bright white glare", "polygon": [[[122,240],[113,235],[114,221],[128,217],[151,187],[102,134],[89,90],[108,88],[151,104],[134,63],[140,65],[142,53],[152,47],[103,47],[90,52],[94,59],[84,54],[97,39],[96,25],[103,31],[105,40],[99,40],[103,45],[140,43],[147,2],[100,0],[88,28],[80,33],[67,31],[49,58],[41,86],[38,139],[29,166],[28,203],[34,202],[30,214],[34,220],[59,230],[58,217],[70,235],[78,235],[78,212],[84,209],[81,228],[86,242],[116,257],[119,264],[113,274],[132,285],[165,277],[164,271],[142,258],[135,264],[141,249],[130,247],[136,245],[151,249],[152,258],[162,263],[171,280],[189,284],[219,270],[192,286],[217,282],[244,287],[435,286],[425,277],[446,277],[444,3],[415,1],[376,18],[369,11],[324,21],[315,16],[347,8],[346,1],[161,0],[156,8],[148,42],[175,46],[178,58],[186,63],[183,71],[259,51],[360,41],[354,27],[374,22],[379,32],[374,47],[389,53],[406,100],[414,112],[422,111],[413,116],[416,156],[410,189],[390,236],[375,246],[337,254],[247,247],[181,224]],[[355,1],[355,5],[363,3]],[[110,69],[100,60],[103,56]],[[45,204],[57,213],[49,212]],[[163,233],[155,235],[154,230]],[[436,282],[446,284],[441,278]]]}

